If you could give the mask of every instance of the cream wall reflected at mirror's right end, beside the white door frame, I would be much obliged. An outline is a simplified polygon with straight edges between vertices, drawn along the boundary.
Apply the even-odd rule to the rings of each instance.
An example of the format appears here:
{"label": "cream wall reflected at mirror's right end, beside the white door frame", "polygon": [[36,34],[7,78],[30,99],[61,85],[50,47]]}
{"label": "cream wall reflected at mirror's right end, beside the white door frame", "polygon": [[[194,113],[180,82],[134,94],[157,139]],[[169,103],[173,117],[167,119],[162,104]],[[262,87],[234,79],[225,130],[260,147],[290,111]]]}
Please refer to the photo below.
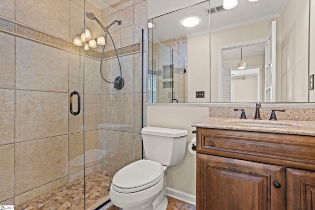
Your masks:
{"label": "cream wall reflected at mirror's right end, beside the white door frame", "polygon": [[308,101],[308,29],[309,1],[289,0],[282,16],[281,101]]}

